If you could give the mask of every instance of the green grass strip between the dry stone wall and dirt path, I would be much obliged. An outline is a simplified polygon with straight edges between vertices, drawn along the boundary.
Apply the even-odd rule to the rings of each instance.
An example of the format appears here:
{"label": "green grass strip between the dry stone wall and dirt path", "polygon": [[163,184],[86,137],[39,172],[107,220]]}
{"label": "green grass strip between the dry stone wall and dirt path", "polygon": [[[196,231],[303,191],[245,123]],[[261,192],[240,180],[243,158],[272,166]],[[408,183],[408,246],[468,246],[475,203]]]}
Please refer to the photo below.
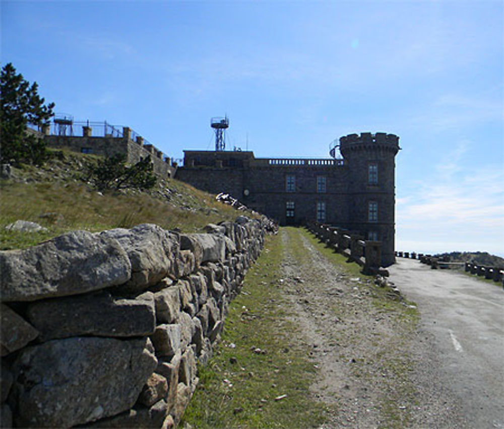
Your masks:
{"label": "green grass strip between the dry stone wall and dirt path", "polygon": [[181,424],[291,428],[324,421],[324,406],[308,390],[313,362],[293,339],[296,328],[284,310],[282,252],[280,237],[268,237],[242,292],[230,304],[221,344],[208,366],[199,368],[200,384]]}

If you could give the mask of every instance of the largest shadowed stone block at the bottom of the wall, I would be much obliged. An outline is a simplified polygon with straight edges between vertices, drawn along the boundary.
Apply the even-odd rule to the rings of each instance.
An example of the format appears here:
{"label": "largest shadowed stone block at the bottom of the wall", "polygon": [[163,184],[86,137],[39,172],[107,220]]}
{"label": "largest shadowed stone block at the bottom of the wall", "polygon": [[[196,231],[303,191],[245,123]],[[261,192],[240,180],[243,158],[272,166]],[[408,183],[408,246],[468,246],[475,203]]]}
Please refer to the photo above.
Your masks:
{"label": "largest shadowed stone block at the bottom of the wall", "polygon": [[157,366],[148,338],[72,337],[25,348],[13,365],[18,425],[70,427],[133,406]]}

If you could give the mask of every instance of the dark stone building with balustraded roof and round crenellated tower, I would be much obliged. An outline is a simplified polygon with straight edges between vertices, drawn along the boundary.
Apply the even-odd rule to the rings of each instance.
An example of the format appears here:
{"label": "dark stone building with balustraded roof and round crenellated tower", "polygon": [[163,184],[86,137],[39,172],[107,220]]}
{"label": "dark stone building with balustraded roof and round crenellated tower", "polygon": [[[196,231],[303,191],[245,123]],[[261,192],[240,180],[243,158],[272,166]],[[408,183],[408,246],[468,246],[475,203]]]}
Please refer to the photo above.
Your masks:
{"label": "dark stone building with balustraded roof and round crenellated tower", "polygon": [[[382,265],[394,258],[395,155],[399,137],[340,138],[343,159],[256,158],[251,151],[184,151],[175,178],[225,192],[280,225],[318,221],[382,241]],[[334,155],[334,150],[331,153]]]}

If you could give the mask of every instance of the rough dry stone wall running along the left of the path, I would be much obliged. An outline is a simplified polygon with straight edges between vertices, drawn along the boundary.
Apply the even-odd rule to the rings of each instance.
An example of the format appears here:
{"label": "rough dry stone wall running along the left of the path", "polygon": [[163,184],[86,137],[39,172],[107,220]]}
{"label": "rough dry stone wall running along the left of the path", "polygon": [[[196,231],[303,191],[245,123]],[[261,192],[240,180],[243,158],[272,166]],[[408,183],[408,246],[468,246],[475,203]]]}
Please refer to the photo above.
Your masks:
{"label": "rough dry stone wall running along the left of the path", "polygon": [[174,427],[268,220],[74,231],[0,252],[2,427]]}

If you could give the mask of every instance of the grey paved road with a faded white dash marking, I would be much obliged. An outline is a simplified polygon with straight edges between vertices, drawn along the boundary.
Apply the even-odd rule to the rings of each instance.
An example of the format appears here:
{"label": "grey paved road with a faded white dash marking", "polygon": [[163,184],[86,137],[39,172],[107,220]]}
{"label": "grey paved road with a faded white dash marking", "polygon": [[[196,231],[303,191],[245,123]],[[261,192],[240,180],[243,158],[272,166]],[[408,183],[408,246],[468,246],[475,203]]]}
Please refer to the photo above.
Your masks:
{"label": "grey paved road with a faded white dash marking", "polygon": [[504,291],[463,273],[398,259],[390,280],[415,301],[433,338],[440,382],[467,427],[504,427]]}

